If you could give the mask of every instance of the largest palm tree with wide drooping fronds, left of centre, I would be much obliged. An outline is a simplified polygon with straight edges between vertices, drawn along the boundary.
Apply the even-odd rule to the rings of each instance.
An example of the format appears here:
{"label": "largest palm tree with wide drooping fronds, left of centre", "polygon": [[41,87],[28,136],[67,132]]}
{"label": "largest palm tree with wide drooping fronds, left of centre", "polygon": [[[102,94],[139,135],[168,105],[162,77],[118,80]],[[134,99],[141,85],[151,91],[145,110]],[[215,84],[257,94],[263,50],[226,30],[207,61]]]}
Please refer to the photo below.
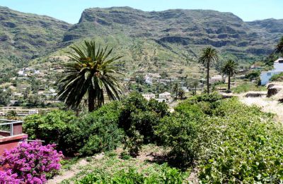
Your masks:
{"label": "largest palm tree with wide drooping fronds, left of centre", "polygon": [[58,92],[58,99],[64,102],[71,109],[78,109],[83,97],[88,99],[88,111],[93,111],[95,106],[104,104],[103,92],[108,94],[110,100],[120,99],[122,86],[117,81],[115,74],[116,67],[113,62],[121,56],[109,58],[112,49],[108,47],[101,49],[96,47],[95,42],[85,41],[81,47],[70,47],[72,51],[67,52],[73,61],[67,63],[65,68],[66,76],[60,83],[62,89]]}

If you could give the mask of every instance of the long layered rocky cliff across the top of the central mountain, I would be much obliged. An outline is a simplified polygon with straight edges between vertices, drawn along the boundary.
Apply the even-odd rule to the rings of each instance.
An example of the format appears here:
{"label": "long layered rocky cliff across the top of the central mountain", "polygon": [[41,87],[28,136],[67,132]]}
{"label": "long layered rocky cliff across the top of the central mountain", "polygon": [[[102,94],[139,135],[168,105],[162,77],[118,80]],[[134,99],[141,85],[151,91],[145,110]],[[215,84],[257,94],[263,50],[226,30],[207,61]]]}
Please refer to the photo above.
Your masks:
{"label": "long layered rocky cliff across the top of the central mountain", "polygon": [[282,30],[282,20],[246,23],[233,13],[218,11],[144,12],[129,7],[88,8],[83,11],[79,23],[65,33],[64,42],[122,34],[154,39],[159,44],[180,44],[183,49],[194,47],[196,52],[210,44],[242,58],[243,54],[269,54]]}

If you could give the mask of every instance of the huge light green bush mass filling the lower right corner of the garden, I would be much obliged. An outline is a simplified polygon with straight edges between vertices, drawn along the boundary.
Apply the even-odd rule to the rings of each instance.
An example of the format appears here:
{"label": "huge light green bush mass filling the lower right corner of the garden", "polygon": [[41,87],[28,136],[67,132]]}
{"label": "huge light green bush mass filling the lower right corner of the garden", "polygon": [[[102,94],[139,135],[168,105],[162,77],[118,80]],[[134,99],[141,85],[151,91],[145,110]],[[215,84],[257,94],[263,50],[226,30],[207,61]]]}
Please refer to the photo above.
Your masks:
{"label": "huge light green bush mass filling the lower right corner of the garden", "polygon": [[[195,103],[192,103],[195,102]],[[156,128],[180,166],[196,164],[202,183],[280,183],[283,128],[238,99],[188,99]]]}

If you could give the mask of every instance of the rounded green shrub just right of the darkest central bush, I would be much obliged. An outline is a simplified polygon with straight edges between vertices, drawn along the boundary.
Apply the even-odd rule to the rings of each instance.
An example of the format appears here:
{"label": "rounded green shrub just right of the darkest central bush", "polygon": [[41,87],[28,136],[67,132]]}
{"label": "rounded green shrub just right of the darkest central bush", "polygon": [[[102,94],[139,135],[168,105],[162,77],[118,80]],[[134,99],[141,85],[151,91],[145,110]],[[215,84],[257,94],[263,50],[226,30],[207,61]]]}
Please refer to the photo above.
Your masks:
{"label": "rounded green shrub just right of the darkest central bush", "polygon": [[156,134],[163,140],[163,145],[171,147],[169,156],[175,166],[184,168],[196,159],[199,142],[195,137],[198,129],[194,118],[177,113],[164,117],[156,127]]}

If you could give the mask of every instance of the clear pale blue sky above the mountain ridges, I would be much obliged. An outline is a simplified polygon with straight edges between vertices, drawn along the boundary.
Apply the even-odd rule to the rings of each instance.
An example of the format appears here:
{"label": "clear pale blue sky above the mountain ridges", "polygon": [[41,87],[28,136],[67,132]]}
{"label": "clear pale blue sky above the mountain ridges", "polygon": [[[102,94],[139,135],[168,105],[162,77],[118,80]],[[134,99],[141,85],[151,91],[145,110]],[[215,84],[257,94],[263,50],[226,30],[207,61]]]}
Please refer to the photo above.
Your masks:
{"label": "clear pale blue sky above the mountain ridges", "polygon": [[77,23],[85,8],[130,6],[143,11],[173,8],[231,12],[245,21],[283,18],[283,0],[0,0],[0,6]]}

